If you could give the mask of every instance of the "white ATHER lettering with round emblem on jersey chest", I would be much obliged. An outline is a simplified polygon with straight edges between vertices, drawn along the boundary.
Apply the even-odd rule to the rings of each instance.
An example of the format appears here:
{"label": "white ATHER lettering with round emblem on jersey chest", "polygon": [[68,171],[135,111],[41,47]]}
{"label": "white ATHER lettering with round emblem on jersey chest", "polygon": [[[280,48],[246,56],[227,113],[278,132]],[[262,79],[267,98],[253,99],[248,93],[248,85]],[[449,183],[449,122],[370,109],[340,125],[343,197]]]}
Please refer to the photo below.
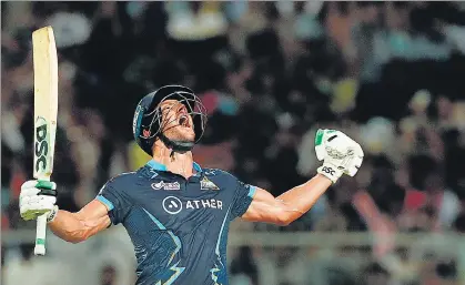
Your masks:
{"label": "white ATHER lettering with round emblem on jersey chest", "polygon": [[182,202],[179,197],[168,196],[163,199],[162,202],[163,210],[171,214],[175,215],[182,210],[192,211],[199,208],[215,208],[223,210],[223,202],[215,199],[200,199],[200,200],[188,200]]}

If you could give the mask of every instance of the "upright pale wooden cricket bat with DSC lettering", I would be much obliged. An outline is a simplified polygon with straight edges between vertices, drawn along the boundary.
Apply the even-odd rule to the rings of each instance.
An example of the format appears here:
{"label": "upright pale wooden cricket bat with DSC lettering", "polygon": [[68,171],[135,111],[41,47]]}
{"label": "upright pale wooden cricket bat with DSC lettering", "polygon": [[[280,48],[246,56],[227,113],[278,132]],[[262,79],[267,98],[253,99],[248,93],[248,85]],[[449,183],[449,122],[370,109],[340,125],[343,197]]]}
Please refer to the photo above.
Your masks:
{"label": "upright pale wooden cricket bat with DSC lettering", "polygon": [[[58,58],[51,27],[32,32],[32,49],[34,69],[33,176],[39,182],[48,182],[53,171],[58,113]],[[37,220],[36,255],[46,254],[46,232],[47,214],[43,214]]]}

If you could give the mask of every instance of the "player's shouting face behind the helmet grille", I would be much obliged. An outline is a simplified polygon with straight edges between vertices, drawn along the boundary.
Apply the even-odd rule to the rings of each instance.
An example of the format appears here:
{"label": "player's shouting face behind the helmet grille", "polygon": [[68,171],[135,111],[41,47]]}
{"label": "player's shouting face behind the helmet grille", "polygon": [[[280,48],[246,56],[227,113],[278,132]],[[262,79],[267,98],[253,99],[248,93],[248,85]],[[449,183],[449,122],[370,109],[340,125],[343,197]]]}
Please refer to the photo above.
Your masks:
{"label": "player's shouting face behind the helmet grille", "polygon": [[161,103],[163,134],[173,141],[193,142],[194,123],[184,104],[178,100]]}

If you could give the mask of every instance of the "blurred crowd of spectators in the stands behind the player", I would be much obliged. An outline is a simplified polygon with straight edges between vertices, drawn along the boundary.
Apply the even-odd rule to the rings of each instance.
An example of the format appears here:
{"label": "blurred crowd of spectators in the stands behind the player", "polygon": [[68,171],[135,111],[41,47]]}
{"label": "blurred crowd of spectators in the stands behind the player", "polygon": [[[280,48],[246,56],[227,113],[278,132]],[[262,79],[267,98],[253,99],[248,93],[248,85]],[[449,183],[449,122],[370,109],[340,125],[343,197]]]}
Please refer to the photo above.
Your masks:
{"label": "blurred crowd of spectators in the stands behind the player", "polygon": [[[314,175],[319,128],[365,151],[357,176],[290,226],[235,231],[378,233],[382,264],[364,269],[367,285],[400,272],[392,234],[465,232],[464,2],[2,2],[1,12],[2,231],[34,227],[18,216],[18,194],[32,175],[31,32],[51,24],[61,208],[79,210],[109,177],[150,160],[132,140],[134,108],[179,83],[210,115],[195,161],[274,195]],[[241,251],[234,284],[261,284]],[[456,275],[448,261],[434,266],[442,279],[418,284]],[[356,284],[336,282],[327,284]]]}

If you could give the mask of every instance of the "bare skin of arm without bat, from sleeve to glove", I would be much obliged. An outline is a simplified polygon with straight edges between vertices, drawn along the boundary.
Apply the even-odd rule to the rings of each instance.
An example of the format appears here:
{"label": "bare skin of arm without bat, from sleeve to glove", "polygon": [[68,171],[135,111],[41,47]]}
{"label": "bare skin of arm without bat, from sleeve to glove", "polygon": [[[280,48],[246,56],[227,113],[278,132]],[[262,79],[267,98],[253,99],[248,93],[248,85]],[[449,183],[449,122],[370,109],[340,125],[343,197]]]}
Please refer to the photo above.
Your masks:
{"label": "bare skin of arm without bat, from sleeve to glove", "polygon": [[326,176],[316,174],[306,183],[295,186],[277,197],[266,190],[256,187],[252,203],[242,218],[250,222],[289,225],[306,213],[331,184],[331,180]]}

